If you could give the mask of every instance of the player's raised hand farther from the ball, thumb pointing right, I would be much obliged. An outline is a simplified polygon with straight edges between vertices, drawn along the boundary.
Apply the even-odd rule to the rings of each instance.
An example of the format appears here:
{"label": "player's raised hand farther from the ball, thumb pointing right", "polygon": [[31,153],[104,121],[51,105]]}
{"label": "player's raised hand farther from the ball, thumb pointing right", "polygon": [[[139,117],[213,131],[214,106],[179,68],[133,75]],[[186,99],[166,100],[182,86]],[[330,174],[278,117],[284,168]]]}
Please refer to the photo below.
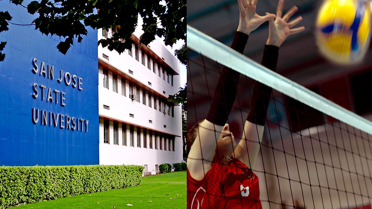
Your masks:
{"label": "player's raised hand farther from the ball, thumb pointing right", "polygon": [[274,20],[275,15],[267,14],[259,16],[256,13],[256,4],[258,0],[238,0],[240,17],[237,31],[246,33],[256,30],[262,23],[267,20]]}

